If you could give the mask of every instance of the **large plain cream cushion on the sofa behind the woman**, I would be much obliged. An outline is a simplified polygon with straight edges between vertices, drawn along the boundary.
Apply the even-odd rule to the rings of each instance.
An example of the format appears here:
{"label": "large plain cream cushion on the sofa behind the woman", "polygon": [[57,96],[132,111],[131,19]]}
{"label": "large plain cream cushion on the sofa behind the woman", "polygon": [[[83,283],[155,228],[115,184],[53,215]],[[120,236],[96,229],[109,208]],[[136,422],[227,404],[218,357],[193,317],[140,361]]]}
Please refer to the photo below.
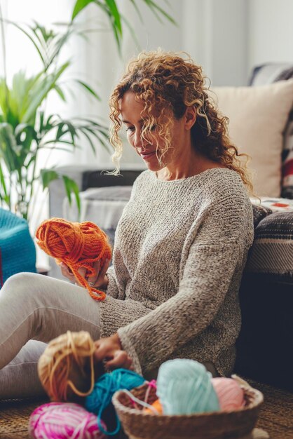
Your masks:
{"label": "large plain cream cushion on the sofa behind the woman", "polygon": [[282,133],[293,102],[293,80],[259,87],[214,87],[210,96],[229,117],[231,140],[252,158],[254,191],[280,196]]}

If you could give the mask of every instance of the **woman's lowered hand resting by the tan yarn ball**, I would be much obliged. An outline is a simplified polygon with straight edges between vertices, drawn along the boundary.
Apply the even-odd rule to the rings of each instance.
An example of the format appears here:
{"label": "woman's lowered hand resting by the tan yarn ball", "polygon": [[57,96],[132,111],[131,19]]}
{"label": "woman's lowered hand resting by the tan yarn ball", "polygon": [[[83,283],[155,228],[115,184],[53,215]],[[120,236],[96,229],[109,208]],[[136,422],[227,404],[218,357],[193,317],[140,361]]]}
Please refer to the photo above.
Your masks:
{"label": "woman's lowered hand resting by the tan yarn ball", "polygon": [[118,369],[118,367],[132,369],[132,359],[127,352],[123,351],[118,334],[97,340],[95,347],[95,362],[106,360],[105,367],[109,370]]}

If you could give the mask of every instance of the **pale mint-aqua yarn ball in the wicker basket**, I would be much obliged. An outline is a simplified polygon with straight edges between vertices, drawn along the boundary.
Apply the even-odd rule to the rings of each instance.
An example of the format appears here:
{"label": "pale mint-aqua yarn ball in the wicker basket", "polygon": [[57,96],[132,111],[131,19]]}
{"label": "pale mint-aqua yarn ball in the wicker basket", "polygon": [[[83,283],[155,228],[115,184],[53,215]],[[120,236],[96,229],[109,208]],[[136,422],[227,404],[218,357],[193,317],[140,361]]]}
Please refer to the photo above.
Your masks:
{"label": "pale mint-aqua yarn ball in the wicker basket", "polygon": [[212,374],[195,360],[168,360],[158,370],[157,396],[163,414],[194,414],[220,410]]}

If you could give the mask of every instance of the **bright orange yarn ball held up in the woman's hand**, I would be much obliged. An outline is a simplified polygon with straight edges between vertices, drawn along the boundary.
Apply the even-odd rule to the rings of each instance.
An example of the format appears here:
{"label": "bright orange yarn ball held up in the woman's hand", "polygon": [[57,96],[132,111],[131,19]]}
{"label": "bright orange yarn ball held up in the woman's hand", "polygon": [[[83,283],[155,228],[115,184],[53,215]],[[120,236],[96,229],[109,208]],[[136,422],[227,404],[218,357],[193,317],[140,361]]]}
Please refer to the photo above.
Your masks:
{"label": "bright orange yarn ball held up in the woman's hand", "polygon": [[[57,264],[64,262],[71,269],[79,283],[95,300],[104,300],[105,293],[91,288],[78,269],[86,268],[86,277],[95,276],[93,263],[100,260],[100,269],[106,259],[111,259],[108,237],[93,222],[70,222],[62,218],[43,221],[36,230],[39,247]],[[97,293],[97,294],[94,294]]]}

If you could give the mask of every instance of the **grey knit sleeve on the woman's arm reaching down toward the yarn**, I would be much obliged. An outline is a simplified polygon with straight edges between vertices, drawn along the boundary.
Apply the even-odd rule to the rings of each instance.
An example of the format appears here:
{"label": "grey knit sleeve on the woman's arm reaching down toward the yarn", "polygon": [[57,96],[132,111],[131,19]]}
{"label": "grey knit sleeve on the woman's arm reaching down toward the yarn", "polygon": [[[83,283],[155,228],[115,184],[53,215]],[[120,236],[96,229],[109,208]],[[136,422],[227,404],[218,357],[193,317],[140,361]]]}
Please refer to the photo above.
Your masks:
{"label": "grey knit sleeve on the woman's arm reaching down toward the yarn", "polygon": [[[203,209],[182,250],[179,290],[146,316],[118,330],[137,372],[152,370],[212,322],[252,243],[250,212],[233,196]],[[246,219],[247,218],[247,219]]]}

